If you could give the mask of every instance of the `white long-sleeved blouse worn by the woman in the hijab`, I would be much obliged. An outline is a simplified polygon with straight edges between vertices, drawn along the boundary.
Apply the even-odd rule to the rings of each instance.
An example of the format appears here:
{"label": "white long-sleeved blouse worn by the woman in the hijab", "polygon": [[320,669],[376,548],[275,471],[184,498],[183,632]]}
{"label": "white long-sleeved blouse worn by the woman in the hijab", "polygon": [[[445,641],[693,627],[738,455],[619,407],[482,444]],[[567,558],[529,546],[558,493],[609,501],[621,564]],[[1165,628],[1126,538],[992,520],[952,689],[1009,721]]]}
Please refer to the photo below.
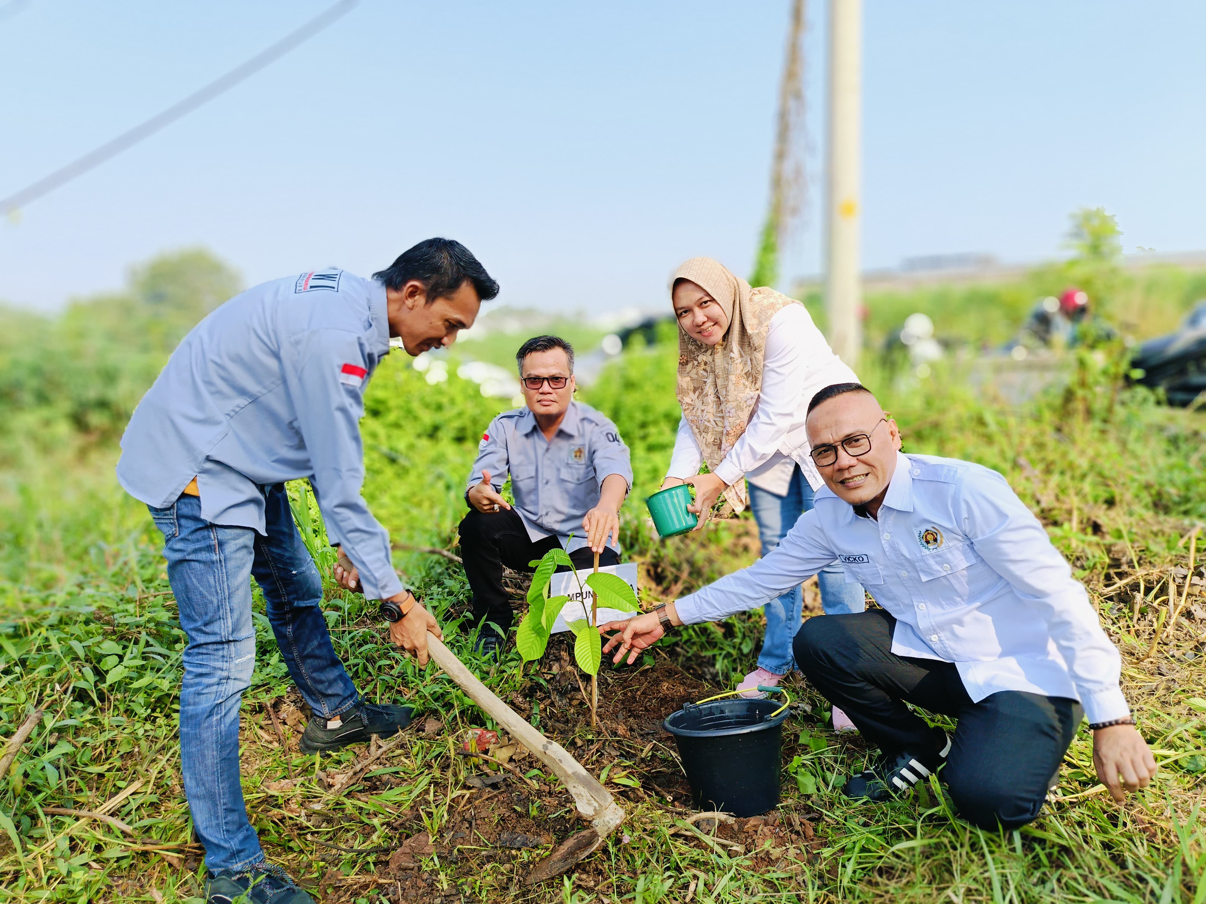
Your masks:
{"label": "white long-sleeved blouse worn by the woman in the hijab", "polygon": [[[833,354],[803,305],[788,305],[771,318],[762,359],[762,389],[745,432],[716,468],[716,476],[732,485],[750,483],[786,495],[795,465],[813,489],[822,481],[809,458],[804,417],[818,391],[833,383],[856,383],[859,377]],[[667,477],[686,480],[699,472],[703,456],[686,418],[678,436]]]}

